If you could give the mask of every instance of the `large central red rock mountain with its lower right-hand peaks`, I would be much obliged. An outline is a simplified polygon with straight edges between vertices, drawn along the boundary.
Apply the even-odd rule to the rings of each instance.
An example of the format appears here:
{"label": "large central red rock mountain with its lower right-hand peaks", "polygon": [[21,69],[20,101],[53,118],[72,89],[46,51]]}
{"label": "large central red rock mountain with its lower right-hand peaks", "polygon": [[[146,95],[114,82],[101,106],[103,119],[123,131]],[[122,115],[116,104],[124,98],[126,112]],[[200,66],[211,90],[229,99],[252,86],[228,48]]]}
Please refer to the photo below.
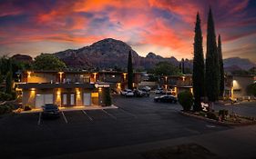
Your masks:
{"label": "large central red rock mountain with its lower right-hand peaks", "polygon": [[66,50],[55,55],[69,67],[75,68],[127,68],[128,52],[131,51],[134,68],[151,68],[160,61],[169,61],[179,65],[175,57],[163,58],[149,53],[146,57],[139,56],[129,45],[115,39],[104,39],[77,50]]}

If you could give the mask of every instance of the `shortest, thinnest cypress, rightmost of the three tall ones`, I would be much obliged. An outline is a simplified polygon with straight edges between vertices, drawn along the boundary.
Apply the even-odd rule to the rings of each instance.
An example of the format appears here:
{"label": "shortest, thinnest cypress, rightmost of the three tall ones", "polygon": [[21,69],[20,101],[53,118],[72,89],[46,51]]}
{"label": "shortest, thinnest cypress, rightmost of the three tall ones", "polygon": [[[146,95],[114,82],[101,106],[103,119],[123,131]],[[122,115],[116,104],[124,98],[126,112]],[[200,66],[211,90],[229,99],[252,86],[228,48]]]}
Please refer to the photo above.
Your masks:
{"label": "shortest, thinnest cypress, rightmost of the three tall ones", "polygon": [[220,97],[222,97],[224,93],[224,68],[223,68],[220,35],[218,36],[218,55],[219,55],[219,63],[220,63]]}

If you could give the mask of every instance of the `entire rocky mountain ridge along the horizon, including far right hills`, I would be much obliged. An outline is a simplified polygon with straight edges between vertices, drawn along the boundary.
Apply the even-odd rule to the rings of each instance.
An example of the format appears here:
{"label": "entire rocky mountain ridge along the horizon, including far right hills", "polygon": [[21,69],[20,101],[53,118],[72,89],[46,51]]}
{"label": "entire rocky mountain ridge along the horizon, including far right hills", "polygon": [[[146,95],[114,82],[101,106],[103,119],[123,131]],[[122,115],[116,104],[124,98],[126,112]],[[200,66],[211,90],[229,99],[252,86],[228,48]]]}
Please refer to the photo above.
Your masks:
{"label": "entire rocky mountain ridge along the horizon, including far right hills", "polygon": [[[146,57],[138,55],[131,46],[126,43],[107,38],[100,40],[92,45],[88,45],[79,49],[68,49],[65,51],[57,52],[56,55],[59,59],[63,60],[70,68],[76,69],[108,69],[108,68],[121,68],[125,70],[128,63],[128,52],[131,51],[133,58],[133,67],[138,70],[144,70],[154,67],[161,61],[167,61],[172,65],[179,66],[179,61],[174,57],[169,58],[148,53]],[[28,55],[14,55],[16,59],[32,59]],[[17,58],[18,57],[18,58]],[[230,57],[223,60],[224,68],[227,71],[233,70],[248,70],[256,64],[252,63],[249,59],[240,57]],[[192,60],[185,59],[185,67],[192,69]]]}

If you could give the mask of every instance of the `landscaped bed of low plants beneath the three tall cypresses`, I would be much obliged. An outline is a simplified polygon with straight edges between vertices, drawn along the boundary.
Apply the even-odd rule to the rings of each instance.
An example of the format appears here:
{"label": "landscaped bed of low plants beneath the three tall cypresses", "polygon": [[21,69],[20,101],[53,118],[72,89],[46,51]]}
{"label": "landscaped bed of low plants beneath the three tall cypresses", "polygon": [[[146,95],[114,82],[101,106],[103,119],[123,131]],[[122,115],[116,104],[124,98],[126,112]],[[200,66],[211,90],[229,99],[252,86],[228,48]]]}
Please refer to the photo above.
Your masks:
{"label": "landscaped bed of low plants beneath the three tall cypresses", "polygon": [[215,124],[234,126],[256,124],[256,119],[254,117],[242,116],[239,114],[229,114],[228,110],[220,110],[219,112],[181,111],[180,114],[195,117]]}

